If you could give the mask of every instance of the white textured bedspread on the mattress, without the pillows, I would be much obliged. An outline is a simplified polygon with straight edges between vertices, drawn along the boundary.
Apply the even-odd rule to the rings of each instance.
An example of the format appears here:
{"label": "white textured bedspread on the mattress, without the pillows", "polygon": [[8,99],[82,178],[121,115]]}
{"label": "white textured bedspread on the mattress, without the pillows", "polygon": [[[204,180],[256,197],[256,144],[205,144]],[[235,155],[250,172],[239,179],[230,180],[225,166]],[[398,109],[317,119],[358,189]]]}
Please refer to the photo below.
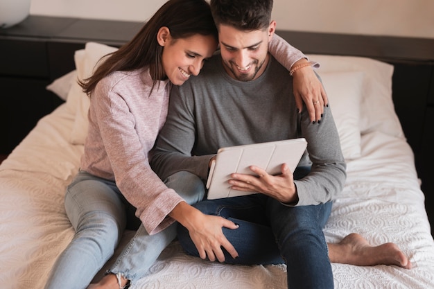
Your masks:
{"label": "white textured bedspread on the mattress, without the pillows", "polygon": [[[63,204],[83,152],[82,145],[69,143],[73,118],[67,105],[58,107],[0,166],[1,288],[43,288],[73,236]],[[327,240],[357,232],[372,245],[397,243],[413,269],[333,263],[335,287],[434,288],[434,242],[410,147],[402,138],[370,132],[361,148],[363,157],[348,162],[345,190],[324,229]],[[126,232],[123,241],[133,233]],[[286,266],[202,261],[186,256],[174,241],[131,288],[279,289],[286,288]]]}

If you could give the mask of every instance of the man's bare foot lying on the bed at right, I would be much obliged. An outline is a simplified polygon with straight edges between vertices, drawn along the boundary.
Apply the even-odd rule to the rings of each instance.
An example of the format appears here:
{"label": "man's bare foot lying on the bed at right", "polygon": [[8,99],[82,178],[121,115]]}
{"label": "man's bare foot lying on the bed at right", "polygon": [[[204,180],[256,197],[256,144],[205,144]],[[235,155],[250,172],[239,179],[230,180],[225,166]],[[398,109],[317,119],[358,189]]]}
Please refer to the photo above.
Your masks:
{"label": "man's bare foot lying on the bed at right", "polygon": [[411,262],[394,243],[371,246],[361,235],[353,233],[338,244],[329,245],[329,258],[333,263],[358,266],[397,265],[410,269]]}

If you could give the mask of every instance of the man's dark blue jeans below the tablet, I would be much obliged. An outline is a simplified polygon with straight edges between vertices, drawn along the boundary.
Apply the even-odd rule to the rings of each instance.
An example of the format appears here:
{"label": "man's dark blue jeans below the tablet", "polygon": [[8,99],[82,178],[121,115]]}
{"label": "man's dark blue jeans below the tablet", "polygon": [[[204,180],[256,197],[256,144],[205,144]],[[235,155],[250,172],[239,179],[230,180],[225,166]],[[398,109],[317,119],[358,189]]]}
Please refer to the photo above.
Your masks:
{"label": "man's dark blue jeans below the tablet", "polygon": [[[287,207],[266,195],[256,194],[193,205],[203,213],[222,216],[239,225],[223,228],[238,252],[230,264],[286,263],[288,288],[333,288],[333,274],[322,228],[331,213],[331,202],[316,206]],[[177,236],[187,253],[199,256],[189,232],[177,226]]]}

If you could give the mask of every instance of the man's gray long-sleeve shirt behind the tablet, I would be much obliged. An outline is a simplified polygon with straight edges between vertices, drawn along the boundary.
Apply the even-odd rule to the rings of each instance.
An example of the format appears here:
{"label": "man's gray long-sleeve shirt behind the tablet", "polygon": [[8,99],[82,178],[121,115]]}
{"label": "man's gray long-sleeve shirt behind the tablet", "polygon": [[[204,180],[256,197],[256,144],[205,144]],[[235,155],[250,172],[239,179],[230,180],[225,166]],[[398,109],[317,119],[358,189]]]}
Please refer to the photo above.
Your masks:
{"label": "man's gray long-sleeve shirt behind the tablet", "polygon": [[[272,57],[259,78],[241,82],[227,75],[215,55],[199,76],[173,87],[150,164],[162,179],[180,170],[207,179],[209,160],[218,148],[296,137],[308,141],[312,163],[311,173],[295,181],[296,205],[333,200],[342,191],[346,166],[330,108],[325,107],[320,124],[311,123],[306,110],[299,115],[292,79]],[[301,163],[307,162],[306,155]]]}

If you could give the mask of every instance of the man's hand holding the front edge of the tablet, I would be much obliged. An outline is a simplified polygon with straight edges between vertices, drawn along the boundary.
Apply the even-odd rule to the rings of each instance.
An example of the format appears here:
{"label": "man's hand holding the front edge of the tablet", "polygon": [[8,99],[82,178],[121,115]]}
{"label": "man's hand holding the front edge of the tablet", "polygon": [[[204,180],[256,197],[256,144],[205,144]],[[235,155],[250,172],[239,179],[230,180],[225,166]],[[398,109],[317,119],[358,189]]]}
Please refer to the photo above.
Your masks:
{"label": "man's hand holding the front edge of the tablet", "polygon": [[[254,191],[263,193],[286,204],[298,202],[293,173],[287,164],[281,165],[281,175],[269,175],[262,168],[250,166],[255,175],[233,173],[229,184],[237,191]],[[257,176],[256,176],[257,175]]]}

